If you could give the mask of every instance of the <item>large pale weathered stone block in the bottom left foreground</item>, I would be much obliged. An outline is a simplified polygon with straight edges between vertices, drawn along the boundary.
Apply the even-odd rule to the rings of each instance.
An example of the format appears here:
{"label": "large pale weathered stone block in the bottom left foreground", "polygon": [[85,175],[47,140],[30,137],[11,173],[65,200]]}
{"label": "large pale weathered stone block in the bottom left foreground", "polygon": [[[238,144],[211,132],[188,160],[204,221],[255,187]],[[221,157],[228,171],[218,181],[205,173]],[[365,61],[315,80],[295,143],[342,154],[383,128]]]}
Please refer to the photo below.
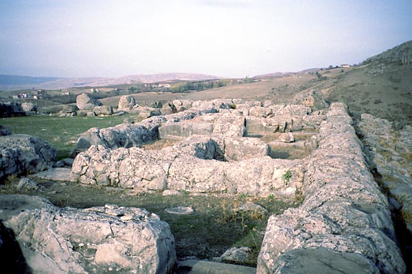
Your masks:
{"label": "large pale weathered stone block in the bottom left foreground", "polygon": [[167,223],[139,208],[56,208],[47,200],[1,195],[0,219],[34,273],[171,273],[174,237]]}

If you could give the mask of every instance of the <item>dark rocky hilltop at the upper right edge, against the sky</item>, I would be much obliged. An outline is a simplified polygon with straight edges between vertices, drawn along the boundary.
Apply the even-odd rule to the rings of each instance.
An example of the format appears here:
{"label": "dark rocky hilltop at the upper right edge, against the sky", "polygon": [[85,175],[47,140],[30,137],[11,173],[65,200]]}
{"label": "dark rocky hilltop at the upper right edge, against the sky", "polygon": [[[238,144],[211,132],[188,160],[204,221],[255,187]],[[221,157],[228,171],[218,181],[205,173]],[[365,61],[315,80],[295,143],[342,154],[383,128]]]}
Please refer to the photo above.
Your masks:
{"label": "dark rocky hilltop at the upper right edge, against the sky", "polygon": [[378,55],[367,58],[362,64],[370,63],[389,63],[398,62],[399,64],[412,64],[412,40],[388,49]]}

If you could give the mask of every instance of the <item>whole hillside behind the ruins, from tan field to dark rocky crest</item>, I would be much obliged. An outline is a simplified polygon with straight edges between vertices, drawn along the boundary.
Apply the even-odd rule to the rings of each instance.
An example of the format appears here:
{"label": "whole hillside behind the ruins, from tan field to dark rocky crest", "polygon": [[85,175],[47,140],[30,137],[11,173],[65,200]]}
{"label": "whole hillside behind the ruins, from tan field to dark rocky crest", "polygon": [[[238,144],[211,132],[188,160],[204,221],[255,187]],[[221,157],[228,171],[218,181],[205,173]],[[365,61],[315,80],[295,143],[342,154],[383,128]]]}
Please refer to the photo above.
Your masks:
{"label": "whole hillside behind the ruins, from tan field to dark rocky crest", "polygon": [[[324,99],[343,101],[355,114],[369,113],[382,119],[412,125],[412,41],[365,60],[360,66],[309,71],[299,77],[277,73],[253,84],[227,86],[187,95],[201,99],[247,97],[291,103],[294,97],[320,92]],[[316,73],[319,77],[315,77]],[[202,97],[203,95],[203,97]]]}

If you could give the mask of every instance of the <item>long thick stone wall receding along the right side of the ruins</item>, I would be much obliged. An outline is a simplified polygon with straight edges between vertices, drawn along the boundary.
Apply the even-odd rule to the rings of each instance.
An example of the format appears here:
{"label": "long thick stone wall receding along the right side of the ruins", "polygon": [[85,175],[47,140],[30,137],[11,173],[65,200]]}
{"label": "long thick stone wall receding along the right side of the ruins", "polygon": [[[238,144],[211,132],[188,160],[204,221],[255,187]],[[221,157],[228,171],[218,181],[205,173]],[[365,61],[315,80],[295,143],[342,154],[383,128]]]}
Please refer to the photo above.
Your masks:
{"label": "long thick stone wall receding along the right side of the ruins", "polygon": [[404,273],[389,205],[345,105],[332,103],[307,166],[304,203],[268,220],[258,273]]}

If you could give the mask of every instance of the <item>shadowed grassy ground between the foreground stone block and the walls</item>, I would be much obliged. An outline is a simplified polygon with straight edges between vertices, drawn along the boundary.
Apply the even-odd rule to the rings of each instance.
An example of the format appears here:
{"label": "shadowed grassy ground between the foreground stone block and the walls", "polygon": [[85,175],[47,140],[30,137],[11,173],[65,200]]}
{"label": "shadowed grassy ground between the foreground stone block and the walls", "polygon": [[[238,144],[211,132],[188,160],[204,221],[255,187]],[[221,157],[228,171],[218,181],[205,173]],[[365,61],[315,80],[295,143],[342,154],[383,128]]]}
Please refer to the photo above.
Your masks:
{"label": "shadowed grassy ground between the foreground stone block and the walls", "polygon": [[[281,214],[286,208],[297,207],[301,198],[284,200],[245,196],[162,196],[160,193],[136,195],[133,190],[122,188],[104,188],[82,184],[58,183],[36,179],[39,190],[17,190],[9,182],[0,188],[0,194],[27,194],[46,197],[56,206],[90,208],[104,206],[106,203],[136,208],[146,208],[155,212],[166,221],[176,240],[178,258],[196,256],[207,259],[219,257],[231,247],[249,247],[252,252],[244,264],[255,266],[262,245],[268,216]],[[93,193],[93,195],[90,195]],[[253,202],[267,212],[238,211],[243,203]],[[166,208],[189,206],[194,213],[174,215],[165,212]]]}

